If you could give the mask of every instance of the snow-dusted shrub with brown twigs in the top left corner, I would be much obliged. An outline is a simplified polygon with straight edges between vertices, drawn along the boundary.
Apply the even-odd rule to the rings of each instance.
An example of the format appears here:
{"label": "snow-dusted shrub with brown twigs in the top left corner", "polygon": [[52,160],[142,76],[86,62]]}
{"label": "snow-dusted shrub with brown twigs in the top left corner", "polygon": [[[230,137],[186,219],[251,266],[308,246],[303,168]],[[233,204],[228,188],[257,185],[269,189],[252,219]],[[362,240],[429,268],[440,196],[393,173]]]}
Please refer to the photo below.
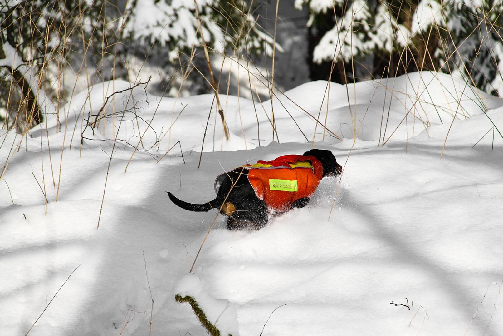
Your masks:
{"label": "snow-dusted shrub with brown twigs in the top left corner", "polygon": [[[60,74],[74,55],[82,57],[75,49],[86,57],[88,50],[98,49],[96,41],[102,54],[109,45],[106,7],[104,0],[8,0],[0,5],[3,127],[28,129],[64,104]],[[76,41],[83,47],[76,48]]]}

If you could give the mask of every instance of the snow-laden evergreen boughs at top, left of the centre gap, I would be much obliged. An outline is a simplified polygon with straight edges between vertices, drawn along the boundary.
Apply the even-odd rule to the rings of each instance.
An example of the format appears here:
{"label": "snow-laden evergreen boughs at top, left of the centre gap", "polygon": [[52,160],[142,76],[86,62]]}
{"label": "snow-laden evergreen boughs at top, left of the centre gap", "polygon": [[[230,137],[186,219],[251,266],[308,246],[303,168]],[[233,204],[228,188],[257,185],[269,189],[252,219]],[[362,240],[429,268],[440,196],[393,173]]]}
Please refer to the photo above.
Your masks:
{"label": "snow-laden evergreen boughs at top, left of the centre gap", "polygon": [[[144,47],[169,50],[169,61],[177,60],[181,53],[190,55],[194,44],[202,44],[195,3],[193,0],[135,0],[128,9],[130,15],[125,20],[124,34]],[[197,5],[201,30],[211,50],[269,50],[265,44],[272,44],[272,38],[255,25],[246,2],[199,0]]]}

